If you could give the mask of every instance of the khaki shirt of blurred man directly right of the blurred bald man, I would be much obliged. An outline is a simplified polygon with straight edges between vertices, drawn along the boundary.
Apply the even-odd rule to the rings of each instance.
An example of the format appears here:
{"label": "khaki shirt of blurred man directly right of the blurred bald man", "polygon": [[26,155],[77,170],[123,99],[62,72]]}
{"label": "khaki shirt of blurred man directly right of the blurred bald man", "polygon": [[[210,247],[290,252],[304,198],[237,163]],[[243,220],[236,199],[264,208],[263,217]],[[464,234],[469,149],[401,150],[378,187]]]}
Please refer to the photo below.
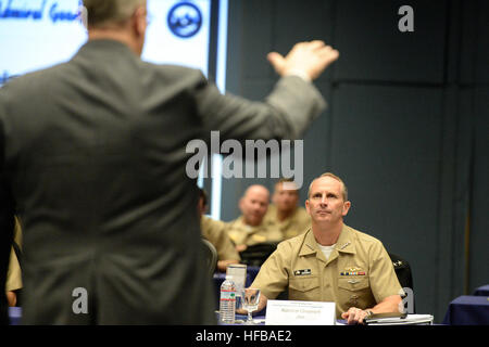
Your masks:
{"label": "khaki shirt of blurred man directly right of the blurred bald man", "polygon": [[308,215],[303,207],[297,207],[290,217],[279,221],[277,218],[277,207],[269,205],[265,220],[278,226],[284,235],[284,240],[300,235],[311,228],[311,216]]}

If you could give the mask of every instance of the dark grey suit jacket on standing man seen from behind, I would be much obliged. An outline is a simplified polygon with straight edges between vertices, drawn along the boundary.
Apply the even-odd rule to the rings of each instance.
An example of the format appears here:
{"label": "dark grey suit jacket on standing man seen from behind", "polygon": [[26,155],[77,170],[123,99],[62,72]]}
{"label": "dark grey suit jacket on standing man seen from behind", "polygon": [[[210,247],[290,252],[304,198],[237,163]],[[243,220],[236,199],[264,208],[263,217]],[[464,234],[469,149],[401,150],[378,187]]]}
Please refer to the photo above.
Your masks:
{"label": "dark grey suit jacket on standing man seen from behind", "polygon": [[[111,40],[7,83],[0,221],[3,232],[15,204],[23,322],[214,323],[186,144],[211,129],[221,141],[297,138],[324,106],[298,77],[263,103],[224,97],[200,72]],[[78,287],[88,313],[74,313]]]}

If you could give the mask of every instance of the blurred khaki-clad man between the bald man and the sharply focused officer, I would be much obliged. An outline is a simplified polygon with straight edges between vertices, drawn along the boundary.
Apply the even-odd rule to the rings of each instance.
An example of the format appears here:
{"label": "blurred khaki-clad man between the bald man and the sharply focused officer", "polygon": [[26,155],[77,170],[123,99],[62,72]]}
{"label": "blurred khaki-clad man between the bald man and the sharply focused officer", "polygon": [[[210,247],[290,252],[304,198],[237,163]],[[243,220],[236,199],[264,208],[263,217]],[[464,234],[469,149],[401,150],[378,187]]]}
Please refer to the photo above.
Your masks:
{"label": "blurred khaki-clad man between the bald man and the sharply focused officer", "polygon": [[[285,184],[287,183],[287,184]],[[292,179],[283,178],[275,183],[274,194],[265,220],[276,223],[284,240],[294,237],[311,228],[311,218],[304,207],[298,205],[299,190]]]}

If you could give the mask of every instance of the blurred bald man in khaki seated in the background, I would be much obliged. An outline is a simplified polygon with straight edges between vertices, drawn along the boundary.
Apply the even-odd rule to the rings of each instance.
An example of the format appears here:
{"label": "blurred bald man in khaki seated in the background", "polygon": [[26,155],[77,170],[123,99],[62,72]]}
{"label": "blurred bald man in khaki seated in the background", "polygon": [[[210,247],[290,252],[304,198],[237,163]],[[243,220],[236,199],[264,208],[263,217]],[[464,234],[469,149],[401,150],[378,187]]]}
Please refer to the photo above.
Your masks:
{"label": "blurred bald man in khaki seated in the background", "polygon": [[238,252],[255,244],[284,240],[278,227],[264,220],[268,203],[269,192],[260,184],[250,185],[240,198],[242,215],[227,226],[227,234]]}

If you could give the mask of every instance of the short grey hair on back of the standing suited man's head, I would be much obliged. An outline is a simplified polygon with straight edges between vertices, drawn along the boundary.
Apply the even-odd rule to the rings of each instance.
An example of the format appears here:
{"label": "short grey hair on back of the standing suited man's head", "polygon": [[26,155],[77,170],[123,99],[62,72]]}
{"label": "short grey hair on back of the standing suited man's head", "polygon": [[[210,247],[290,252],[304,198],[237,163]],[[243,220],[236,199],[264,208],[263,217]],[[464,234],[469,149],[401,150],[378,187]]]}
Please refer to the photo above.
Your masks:
{"label": "short grey hair on back of the standing suited man's head", "polygon": [[147,0],[84,0],[88,27],[100,28],[121,24],[128,20],[138,7],[146,7]]}

